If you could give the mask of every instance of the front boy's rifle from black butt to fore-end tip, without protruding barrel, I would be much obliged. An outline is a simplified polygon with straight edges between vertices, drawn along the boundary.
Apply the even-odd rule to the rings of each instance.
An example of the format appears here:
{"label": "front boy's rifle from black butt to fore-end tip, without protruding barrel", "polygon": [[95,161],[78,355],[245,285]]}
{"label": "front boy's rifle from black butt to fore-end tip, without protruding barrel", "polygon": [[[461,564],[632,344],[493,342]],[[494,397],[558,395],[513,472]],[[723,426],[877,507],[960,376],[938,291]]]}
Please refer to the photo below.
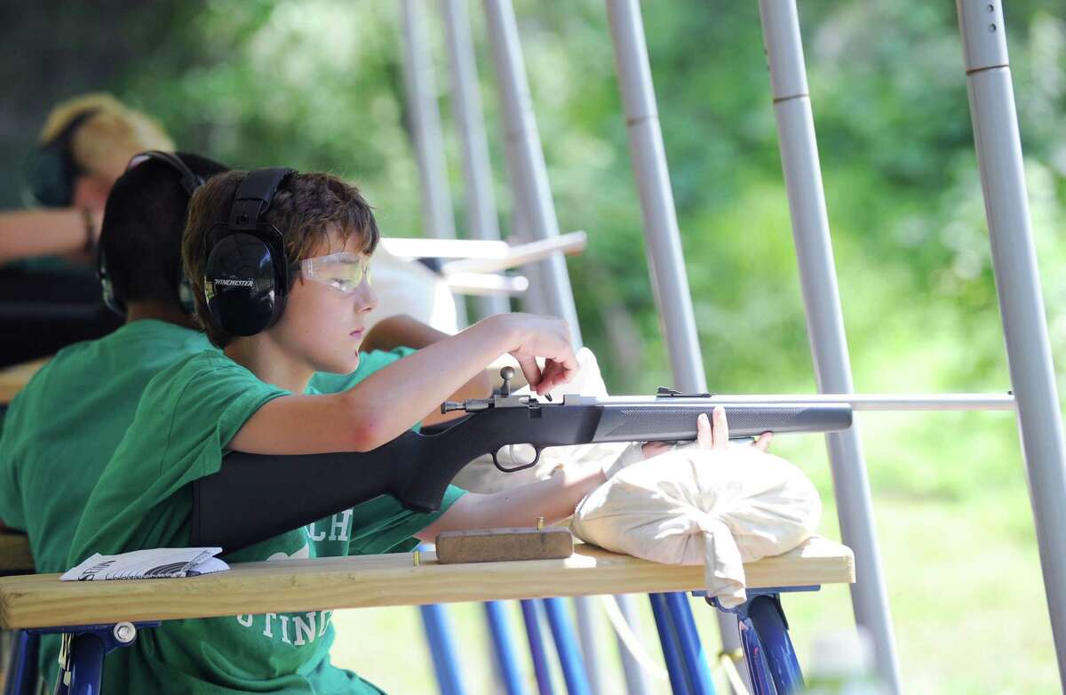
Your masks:
{"label": "front boy's rifle from black butt to fore-end tip, without protruding barrel", "polygon": [[[837,432],[852,424],[846,403],[691,394],[660,388],[652,397],[567,394],[562,403],[511,393],[514,370],[487,399],[447,402],[466,417],[426,433],[406,432],[369,452],[264,456],[232,452],[222,470],[193,483],[193,546],[232,551],[337,512],[392,495],[416,512],[435,512],[452,479],[491,454],[501,471],[536,465],[548,447],[602,441],[696,438],[696,417],[723,406],[730,438],[763,432]],[[506,451],[506,455],[504,455]]]}

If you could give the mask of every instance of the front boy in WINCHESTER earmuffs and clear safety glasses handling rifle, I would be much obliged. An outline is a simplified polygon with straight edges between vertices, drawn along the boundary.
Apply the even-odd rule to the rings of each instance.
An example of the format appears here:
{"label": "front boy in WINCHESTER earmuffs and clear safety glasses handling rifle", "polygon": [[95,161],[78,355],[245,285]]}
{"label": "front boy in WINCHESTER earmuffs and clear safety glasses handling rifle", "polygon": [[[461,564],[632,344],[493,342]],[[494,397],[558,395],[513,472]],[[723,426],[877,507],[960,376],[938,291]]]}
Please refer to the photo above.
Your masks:
{"label": "front boy in WINCHESTER earmuffs and clear safety glasses handling rifle", "polygon": [[[254,191],[256,184],[263,190]],[[190,484],[216,472],[228,451],[375,449],[503,353],[518,359],[537,393],[569,381],[577,362],[562,321],[501,314],[346,391],[318,394],[308,388],[317,371],[346,373],[357,366],[365,317],[376,302],[367,278],[376,242],[369,206],[355,188],[329,175],[230,172],[197,191],[183,241],[185,273],[197,290],[197,316],[222,352],[183,359],[148,385],[91,496],[69,564],[93,552],[188,545]],[[235,313],[235,307],[244,312]],[[546,359],[544,368],[536,357]],[[410,535],[520,526],[535,516],[551,521],[571,514],[603,480],[601,471],[564,470],[497,495],[452,487],[443,511],[419,519],[420,529],[398,529],[384,519],[371,537],[353,539],[311,524],[227,560],[335,555],[354,546],[385,551]],[[378,692],[329,664],[332,637],[328,611],[168,621],[108,658],[103,688],[109,693]]]}

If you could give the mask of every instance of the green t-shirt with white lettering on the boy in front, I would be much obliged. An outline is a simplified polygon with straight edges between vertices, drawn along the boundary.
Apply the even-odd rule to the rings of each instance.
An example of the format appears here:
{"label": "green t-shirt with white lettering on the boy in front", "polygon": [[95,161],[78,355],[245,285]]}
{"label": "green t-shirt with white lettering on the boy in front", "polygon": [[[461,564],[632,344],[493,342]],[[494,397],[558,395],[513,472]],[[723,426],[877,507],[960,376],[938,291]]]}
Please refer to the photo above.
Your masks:
{"label": "green t-shirt with white lettering on the boy in front", "polygon": [[[93,552],[187,546],[190,483],[216,472],[226,445],[247,419],[287,393],[215,351],[160,372],[145,389],[133,424],[93,490],[68,564]],[[462,495],[450,487],[441,512]],[[441,512],[416,514],[391,498],[378,498],[226,560],[385,552],[408,544]],[[103,692],[379,692],[329,663],[330,616],[330,611],[310,611],[164,623],[108,657]]]}

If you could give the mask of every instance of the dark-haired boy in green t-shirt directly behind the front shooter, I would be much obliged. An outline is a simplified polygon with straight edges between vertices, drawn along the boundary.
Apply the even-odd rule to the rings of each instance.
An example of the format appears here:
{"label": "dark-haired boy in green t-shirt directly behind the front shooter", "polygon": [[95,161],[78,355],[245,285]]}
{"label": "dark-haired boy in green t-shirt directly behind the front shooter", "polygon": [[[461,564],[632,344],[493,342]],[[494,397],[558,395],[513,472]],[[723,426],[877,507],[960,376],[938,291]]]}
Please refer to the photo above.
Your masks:
{"label": "dark-haired boy in green t-shirt directly behind the front shooter", "polygon": [[[28,534],[39,572],[68,568],[78,519],[148,382],[164,367],[211,349],[191,313],[191,296],[181,300],[181,235],[197,179],[227,167],[188,153],[141,156],[131,164],[108,197],[100,237],[111,303],[125,323],[104,338],[60,351],[12,401],[0,437],[0,529]],[[376,344],[440,337],[409,323],[390,321]],[[351,388],[411,352],[364,353],[354,373],[317,374],[311,387],[322,392]],[[385,524],[395,538],[421,528],[419,518],[382,498],[311,524],[309,534],[332,544],[366,538]],[[46,682],[54,679],[58,651],[58,637],[43,637],[39,664]]]}

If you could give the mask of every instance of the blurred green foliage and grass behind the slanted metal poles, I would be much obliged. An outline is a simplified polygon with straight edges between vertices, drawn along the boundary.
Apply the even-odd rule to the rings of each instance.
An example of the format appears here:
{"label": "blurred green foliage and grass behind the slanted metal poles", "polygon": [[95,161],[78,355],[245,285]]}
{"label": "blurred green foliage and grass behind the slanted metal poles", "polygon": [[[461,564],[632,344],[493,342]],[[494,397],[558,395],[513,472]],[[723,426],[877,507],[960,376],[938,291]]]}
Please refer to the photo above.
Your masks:
{"label": "blurred green foliage and grass behind the slanted metal poles", "polygon": [[[9,161],[29,147],[53,100],[107,88],[159,117],[181,149],[237,166],[343,174],[365,189],[385,233],[422,233],[397,4],[99,5],[5,3],[0,37],[9,50],[17,48],[0,67],[10,85],[11,108],[0,123]],[[437,4],[425,7],[462,229],[443,35]],[[507,229],[494,71],[479,6],[470,9]],[[811,391],[757,4],[660,0],[643,9],[710,387]],[[587,252],[569,262],[585,340],[613,391],[647,392],[671,376],[603,5],[521,0],[517,12],[561,225],[589,232]],[[1007,390],[953,4],[804,3],[801,14],[857,389]],[[1011,0],[1005,14],[1062,382],[1066,7]],[[3,182],[17,189],[11,178]],[[860,418],[859,426],[907,692],[1054,691],[1013,419],[875,415]],[[827,500],[825,533],[839,537],[821,440],[781,441],[778,450],[819,485]],[[850,625],[842,589],[794,599],[790,611],[803,636],[815,631],[810,625]],[[1014,627],[1018,616],[1023,630]],[[382,620],[364,628],[391,625]],[[417,677],[399,673],[403,657],[360,658],[365,648],[352,647],[348,663],[401,692],[427,686],[404,680]]]}

